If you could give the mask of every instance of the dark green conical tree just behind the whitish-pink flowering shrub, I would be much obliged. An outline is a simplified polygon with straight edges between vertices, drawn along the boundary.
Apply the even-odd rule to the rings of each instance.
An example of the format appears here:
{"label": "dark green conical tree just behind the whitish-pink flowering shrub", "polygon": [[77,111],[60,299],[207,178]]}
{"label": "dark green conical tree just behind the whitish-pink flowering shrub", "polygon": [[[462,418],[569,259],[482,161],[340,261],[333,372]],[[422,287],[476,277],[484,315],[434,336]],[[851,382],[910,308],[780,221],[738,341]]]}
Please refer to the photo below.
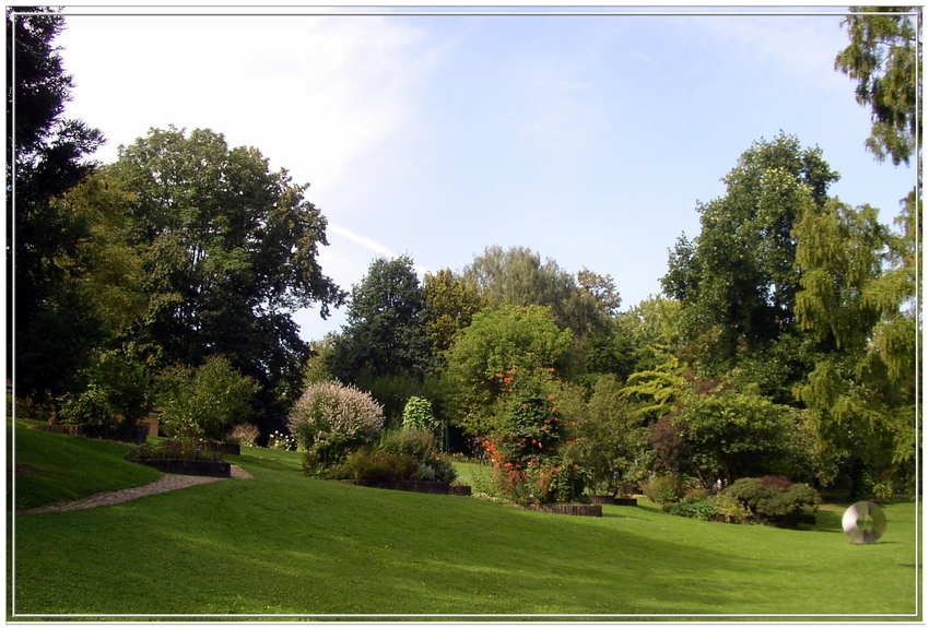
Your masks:
{"label": "dark green conical tree just behind the whitish-pink flowering shrub", "polygon": [[422,376],[428,368],[425,301],[413,261],[378,258],[352,289],[346,321],[331,354],[330,368],[340,381],[356,383],[363,375],[397,372]]}

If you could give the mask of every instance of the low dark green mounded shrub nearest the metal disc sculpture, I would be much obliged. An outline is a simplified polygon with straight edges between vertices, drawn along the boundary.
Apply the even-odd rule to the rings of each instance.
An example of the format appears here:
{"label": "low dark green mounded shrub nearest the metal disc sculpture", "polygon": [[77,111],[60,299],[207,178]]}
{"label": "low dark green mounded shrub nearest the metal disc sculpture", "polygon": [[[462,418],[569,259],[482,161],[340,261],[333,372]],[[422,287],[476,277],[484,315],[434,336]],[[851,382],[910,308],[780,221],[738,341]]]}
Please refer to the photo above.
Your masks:
{"label": "low dark green mounded shrub nearest the metal disc sculpture", "polygon": [[744,520],[756,520],[788,528],[812,514],[820,503],[819,494],[807,484],[765,486],[757,477],[743,477],[722,491],[744,511]]}

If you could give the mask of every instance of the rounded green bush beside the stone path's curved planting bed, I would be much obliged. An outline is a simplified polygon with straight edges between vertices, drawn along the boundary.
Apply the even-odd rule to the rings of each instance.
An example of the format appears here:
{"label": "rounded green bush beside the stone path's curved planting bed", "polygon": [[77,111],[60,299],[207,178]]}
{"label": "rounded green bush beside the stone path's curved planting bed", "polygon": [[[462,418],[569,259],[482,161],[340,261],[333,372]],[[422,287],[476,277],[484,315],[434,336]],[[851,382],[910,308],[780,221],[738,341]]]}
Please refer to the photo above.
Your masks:
{"label": "rounded green bush beside the stone path's curved planting bed", "polygon": [[196,369],[167,369],[158,387],[165,433],[181,440],[186,455],[196,439],[222,440],[230,425],[251,414],[255,382],[224,357],[207,358]]}

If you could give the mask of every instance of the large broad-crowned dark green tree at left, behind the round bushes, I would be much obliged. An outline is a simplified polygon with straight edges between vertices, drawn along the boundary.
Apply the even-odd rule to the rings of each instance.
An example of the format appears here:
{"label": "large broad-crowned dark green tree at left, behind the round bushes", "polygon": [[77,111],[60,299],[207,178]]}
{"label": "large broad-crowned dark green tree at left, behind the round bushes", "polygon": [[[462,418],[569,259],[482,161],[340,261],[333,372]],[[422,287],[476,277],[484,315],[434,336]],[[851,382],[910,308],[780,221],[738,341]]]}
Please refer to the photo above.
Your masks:
{"label": "large broad-crowned dark green tree at left, behind the round bushes", "polygon": [[262,431],[299,395],[309,348],[292,319],[344,294],[317,261],[326,218],[286,170],[209,129],[152,129],[106,168],[130,193],[128,241],[142,264],[145,312],[131,341],[155,368],[224,355],[259,383]]}

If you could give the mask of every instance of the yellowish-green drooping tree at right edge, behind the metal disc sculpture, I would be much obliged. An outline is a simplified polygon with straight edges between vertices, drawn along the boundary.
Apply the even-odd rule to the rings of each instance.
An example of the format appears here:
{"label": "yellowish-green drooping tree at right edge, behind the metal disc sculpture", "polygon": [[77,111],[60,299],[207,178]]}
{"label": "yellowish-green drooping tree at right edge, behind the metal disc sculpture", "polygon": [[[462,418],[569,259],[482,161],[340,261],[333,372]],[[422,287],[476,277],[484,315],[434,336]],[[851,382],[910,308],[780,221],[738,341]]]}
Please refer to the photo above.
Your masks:
{"label": "yellowish-green drooping tree at right edge, behind the metal disc sculpture", "polygon": [[[823,447],[863,464],[873,479],[914,479],[917,455],[915,294],[909,238],[878,223],[873,208],[837,200],[798,226],[801,325],[822,355],[797,389]],[[862,478],[863,479],[863,478]],[[868,486],[871,485],[871,486]]]}

